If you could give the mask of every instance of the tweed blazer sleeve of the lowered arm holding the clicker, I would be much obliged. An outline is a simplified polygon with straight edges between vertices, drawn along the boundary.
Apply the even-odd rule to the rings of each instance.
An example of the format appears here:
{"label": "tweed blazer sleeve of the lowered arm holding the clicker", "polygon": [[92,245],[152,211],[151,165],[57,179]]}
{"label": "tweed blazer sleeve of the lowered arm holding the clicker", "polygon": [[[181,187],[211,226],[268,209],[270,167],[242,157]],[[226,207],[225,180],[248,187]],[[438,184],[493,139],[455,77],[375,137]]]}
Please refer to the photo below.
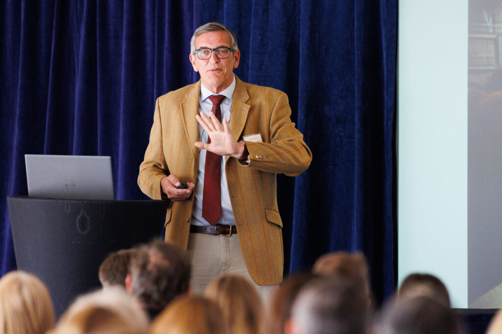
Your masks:
{"label": "tweed blazer sleeve of the lowered arm holding the clicker", "polygon": [[162,119],[160,113],[160,99],[155,103],[154,124],[150,131],[150,142],[145,151],[145,158],[140,165],[138,185],[141,190],[152,199],[162,197],[160,181],[169,175],[162,145]]}

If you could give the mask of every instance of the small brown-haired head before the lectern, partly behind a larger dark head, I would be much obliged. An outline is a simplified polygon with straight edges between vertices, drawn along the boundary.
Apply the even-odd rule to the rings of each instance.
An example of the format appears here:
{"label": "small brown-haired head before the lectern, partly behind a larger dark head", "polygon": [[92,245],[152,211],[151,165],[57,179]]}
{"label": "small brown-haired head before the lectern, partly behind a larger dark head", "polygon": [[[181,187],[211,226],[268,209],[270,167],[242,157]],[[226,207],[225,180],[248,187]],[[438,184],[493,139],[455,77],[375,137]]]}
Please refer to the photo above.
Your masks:
{"label": "small brown-haired head before the lectern, partly behind a larger dark head", "polygon": [[126,276],[130,272],[131,258],[136,251],[121,249],[109,254],[99,266],[99,281],[103,287],[120,285],[126,287]]}

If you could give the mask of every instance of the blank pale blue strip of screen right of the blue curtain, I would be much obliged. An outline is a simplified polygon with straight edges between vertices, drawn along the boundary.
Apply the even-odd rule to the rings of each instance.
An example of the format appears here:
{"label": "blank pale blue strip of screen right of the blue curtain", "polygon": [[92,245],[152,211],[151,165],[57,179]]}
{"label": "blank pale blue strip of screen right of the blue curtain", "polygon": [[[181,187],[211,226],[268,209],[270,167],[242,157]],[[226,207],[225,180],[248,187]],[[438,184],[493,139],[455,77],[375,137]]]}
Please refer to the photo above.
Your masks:
{"label": "blank pale blue strip of screen right of the blue curtain", "polygon": [[467,0],[399,1],[398,276],[467,307]]}

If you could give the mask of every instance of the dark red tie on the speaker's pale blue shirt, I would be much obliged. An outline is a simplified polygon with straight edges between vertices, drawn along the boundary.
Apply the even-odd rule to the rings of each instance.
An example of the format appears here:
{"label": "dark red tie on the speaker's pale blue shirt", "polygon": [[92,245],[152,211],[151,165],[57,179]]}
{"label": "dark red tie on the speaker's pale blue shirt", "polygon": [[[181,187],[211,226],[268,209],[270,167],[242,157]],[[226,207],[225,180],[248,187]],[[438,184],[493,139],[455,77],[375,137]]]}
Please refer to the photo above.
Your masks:
{"label": "dark red tie on the speaker's pale blue shirt", "polygon": [[[220,104],[224,95],[211,95],[213,103],[211,111],[221,123]],[[211,138],[207,137],[207,143]],[[221,217],[221,156],[206,151],[206,165],[204,167],[204,192],[202,194],[202,218],[214,225]]]}

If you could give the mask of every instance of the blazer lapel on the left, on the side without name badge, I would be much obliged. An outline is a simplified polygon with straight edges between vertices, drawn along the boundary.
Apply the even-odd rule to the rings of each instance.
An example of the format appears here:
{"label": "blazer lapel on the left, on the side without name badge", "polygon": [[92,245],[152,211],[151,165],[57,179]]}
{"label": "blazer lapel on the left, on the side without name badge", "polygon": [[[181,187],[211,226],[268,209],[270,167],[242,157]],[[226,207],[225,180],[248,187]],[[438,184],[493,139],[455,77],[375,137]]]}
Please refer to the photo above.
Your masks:
{"label": "blazer lapel on the left, on the side without name badge", "polygon": [[199,149],[195,142],[199,141],[199,122],[195,116],[199,113],[200,80],[192,85],[180,105],[181,119],[194,158],[199,156]]}

